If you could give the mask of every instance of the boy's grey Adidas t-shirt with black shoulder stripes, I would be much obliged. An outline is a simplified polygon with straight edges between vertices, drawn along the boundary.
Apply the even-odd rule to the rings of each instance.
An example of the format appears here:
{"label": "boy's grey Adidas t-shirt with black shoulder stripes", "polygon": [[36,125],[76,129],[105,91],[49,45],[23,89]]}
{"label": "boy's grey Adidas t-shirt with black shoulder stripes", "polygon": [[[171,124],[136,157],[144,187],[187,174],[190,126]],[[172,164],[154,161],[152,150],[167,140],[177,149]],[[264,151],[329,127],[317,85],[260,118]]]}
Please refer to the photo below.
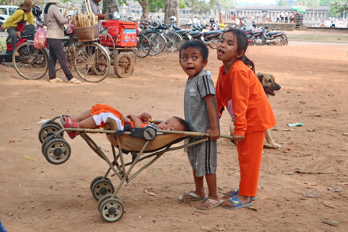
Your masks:
{"label": "boy's grey Adidas t-shirt with black shoulder stripes", "polygon": [[209,77],[207,71],[202,69],[191,81],[189,81],[189,78],[187,79],[184,95],[184,112],[185,120],[189,123],[192,132],[206,133],[210,128],[207,104],[204,100],[204,96],[208,94],[214,95],[216,123],[217,128],[220,128],[212,78]]}

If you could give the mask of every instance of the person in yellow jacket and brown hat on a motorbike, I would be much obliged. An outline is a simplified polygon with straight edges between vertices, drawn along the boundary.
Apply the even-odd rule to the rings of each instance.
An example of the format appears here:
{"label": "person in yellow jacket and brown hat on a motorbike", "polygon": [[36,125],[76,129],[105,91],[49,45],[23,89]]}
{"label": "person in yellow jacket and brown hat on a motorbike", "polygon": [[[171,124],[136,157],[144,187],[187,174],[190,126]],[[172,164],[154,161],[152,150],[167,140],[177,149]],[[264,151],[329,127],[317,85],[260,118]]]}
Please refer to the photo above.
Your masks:
{"label": "person in yellow jacket and brown hat on a motorbike", "polygon": [[[7,29],[7,33],[11,37],[11,45],[13,50],[16,48],[17,38],[21,39],[21,33],[29,32],[35,29],[35,26],[33,25],[33,13],[31,12],[31,8],[34,6],[35,5],[33,5],[30,0],[25,0],[21,5],[19,5],[19,9],[16,10],[15,13],[13,13],[13,15],[11,15],[0,27],[0,30]],[[26,25],[26,22],[28,22],[29,25]],[[24,23],[24,29],[22,31],[18,31],[18,23]]]}

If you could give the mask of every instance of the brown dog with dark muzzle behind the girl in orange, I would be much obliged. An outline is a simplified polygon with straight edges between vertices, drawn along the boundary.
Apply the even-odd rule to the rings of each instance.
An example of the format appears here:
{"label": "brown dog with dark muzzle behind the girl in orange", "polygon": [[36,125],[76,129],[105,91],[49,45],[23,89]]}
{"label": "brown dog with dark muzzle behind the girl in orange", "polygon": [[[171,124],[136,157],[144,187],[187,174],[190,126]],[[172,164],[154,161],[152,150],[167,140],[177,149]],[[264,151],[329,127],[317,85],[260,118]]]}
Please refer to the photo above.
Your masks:
{"label": "brown dog with dark muzzle behind the girl in orange", "polygon": [[[276,93],[274,91],[278,91],[281,87],[274,81],[274,77],[271,74],[268,73],[262,73],[258,72],[256,73],[256,77],[259,78],[259,81],[261,82],[261,85],[263,87],[263,90],[265,91],[267,97],[269,96],[275,96]],[[234,132],[234,125],[233,121],[230,123],[230,135],[233,135]],[[264,136],[266,141],[263,143],[263,148],[281,148],[279,144],[276,144],[270,134],[269,129],[266,130],[266,134]],[[225,145],[236,145],[235,142],[232,139],[228,138],[219,138],[217,139],[217,143],[219,144],[225,144]]]}

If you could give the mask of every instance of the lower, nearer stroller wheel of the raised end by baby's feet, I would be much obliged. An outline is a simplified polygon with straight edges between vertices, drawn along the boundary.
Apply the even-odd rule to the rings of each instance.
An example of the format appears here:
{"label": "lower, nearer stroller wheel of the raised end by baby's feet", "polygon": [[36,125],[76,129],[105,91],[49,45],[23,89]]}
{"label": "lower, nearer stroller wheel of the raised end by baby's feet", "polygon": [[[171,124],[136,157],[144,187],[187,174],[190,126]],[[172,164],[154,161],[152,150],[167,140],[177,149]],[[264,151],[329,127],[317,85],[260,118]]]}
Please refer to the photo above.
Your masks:
{"label": "lower, nearer stroller wheel of the raised end by baby's feet", "polygon": [[71,147],[68,142],[61,138],[55,138],[46,143],[44,156],[52,164],[65,163],[71,154]]}

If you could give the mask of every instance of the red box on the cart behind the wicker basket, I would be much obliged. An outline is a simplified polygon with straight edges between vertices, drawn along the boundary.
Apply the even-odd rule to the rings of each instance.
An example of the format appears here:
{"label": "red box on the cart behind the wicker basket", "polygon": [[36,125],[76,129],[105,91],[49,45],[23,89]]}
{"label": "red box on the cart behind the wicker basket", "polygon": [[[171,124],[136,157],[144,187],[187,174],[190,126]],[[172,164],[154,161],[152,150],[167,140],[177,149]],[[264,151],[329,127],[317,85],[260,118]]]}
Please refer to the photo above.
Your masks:
{"label": "red box on the cart behind the wicker basket", "polygon": [[[103,27],[106,25],[103,22]],[[118,35],[112,36],[116,47],[135,47],[136,46],[136,29],[138,23],[120,22]],[[102,46],[112,47],[113,43],[108,35],[102,35],[100,44]]]}

